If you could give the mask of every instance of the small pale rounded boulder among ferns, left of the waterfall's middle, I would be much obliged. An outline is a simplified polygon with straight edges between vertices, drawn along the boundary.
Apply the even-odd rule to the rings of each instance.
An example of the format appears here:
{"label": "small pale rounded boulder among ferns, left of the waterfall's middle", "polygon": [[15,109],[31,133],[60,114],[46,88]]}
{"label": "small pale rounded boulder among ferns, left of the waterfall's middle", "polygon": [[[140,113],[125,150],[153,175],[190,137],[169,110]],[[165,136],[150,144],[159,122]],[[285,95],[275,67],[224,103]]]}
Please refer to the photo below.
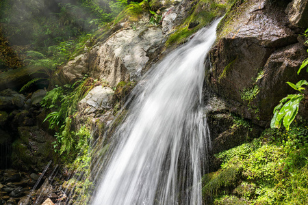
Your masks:
{"label": "small pale rounded boulder among ferns, left of the waterfall's middle", "polygon": [[110,109],[110,101],[114,91],[110,87],[94,87],[87,96],[78,103],[78,110],[90,114],[103,109]]}

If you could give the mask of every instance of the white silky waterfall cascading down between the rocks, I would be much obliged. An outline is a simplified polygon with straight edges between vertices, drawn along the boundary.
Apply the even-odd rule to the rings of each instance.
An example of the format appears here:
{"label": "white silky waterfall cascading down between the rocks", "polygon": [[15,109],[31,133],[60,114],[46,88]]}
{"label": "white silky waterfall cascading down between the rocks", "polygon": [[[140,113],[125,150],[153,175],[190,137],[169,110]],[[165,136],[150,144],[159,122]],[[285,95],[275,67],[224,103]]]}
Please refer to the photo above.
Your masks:
{"label": "white silky waterfall cascading down between the rocks", "polygon": [[210,147],[204,61],[217,24],[170,53],[133,90],[92,204],[202,204],[201,166]]}

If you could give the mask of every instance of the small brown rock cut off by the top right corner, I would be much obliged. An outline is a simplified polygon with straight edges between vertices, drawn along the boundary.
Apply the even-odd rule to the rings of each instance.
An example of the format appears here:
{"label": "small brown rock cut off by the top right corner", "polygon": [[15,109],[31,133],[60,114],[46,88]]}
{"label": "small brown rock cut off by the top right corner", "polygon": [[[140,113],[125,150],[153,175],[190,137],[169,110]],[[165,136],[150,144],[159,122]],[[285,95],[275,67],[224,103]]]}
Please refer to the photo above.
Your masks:
{"label": "small brown rock cut off by the top right corner", "polygon": [[308,0],[293,0],[285,12],[292,25],[298,27],[307,28],[308,27]]}

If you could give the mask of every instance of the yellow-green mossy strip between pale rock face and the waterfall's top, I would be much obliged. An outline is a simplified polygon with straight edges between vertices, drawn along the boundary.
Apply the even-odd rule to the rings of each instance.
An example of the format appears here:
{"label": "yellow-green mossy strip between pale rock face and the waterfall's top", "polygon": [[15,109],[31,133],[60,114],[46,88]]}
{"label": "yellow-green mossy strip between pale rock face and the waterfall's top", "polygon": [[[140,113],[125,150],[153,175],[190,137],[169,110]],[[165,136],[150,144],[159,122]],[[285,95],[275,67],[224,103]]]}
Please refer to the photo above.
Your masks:
{"label": "yellow-green mossy strip between pale rock face and the waterfall's top", "polygon": [[232,1],[227,1],[227,3],[220,3],[216,0],[196,0],[190,10],[190,15],[185,18],[183,23],[176,28],[175,33],[172,33],[168,40],[166,41],[166,46],[172,46],[177,44],[182,44],[187,40],[189,36],[193,33],[209,25],[214,18],[218,16],[223,16],[227,11]]}

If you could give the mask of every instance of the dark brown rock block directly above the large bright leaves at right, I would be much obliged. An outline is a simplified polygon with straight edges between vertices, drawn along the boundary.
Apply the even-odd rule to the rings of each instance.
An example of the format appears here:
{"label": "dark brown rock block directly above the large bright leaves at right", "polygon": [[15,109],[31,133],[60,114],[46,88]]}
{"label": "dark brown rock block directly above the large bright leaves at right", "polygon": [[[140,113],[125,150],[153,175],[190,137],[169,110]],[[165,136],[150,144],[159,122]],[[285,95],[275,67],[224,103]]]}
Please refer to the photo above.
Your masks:
{"label": "dark brown rock block directly above the large bright leaves at right", "polygon": [[279,49],[270,55],[264,66],[264,77],[257,81],[260,90],[253,101],[261,107],[261,118],[271,118],[272,111],[279,101],[287,94],[294,93],[292,87],[285,82],[291,81],[295,84],[301,79],[308,78],[304,70],[300,75],[297,74],[299,66],[306,57],[305,46],[300,43]]}

